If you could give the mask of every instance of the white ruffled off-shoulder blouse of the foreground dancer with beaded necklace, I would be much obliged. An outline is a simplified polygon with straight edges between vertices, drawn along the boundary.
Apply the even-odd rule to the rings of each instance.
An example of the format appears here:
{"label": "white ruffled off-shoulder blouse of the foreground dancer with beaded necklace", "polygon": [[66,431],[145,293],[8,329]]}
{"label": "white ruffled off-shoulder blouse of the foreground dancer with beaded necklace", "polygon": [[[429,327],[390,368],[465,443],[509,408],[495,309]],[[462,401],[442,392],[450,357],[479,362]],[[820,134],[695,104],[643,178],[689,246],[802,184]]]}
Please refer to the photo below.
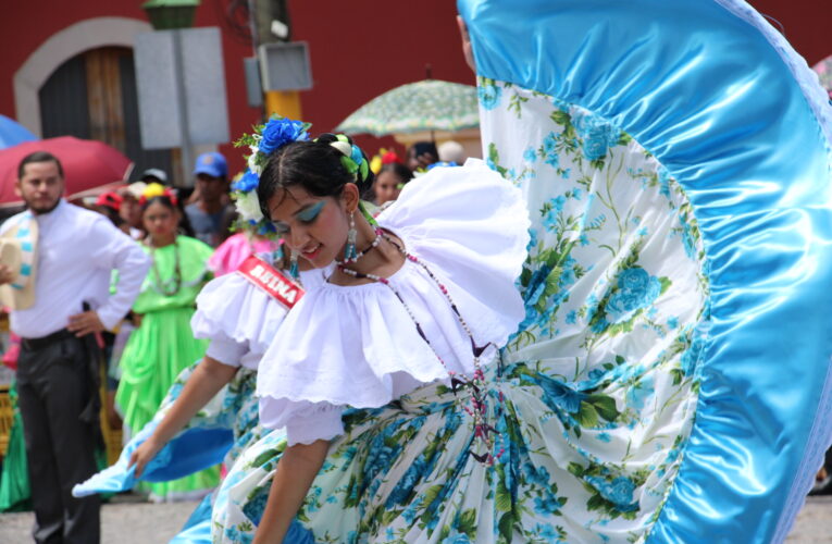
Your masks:
{"label": "white ruffled off-shoulder blouse of the foreground dancer with beaded necklace", "polygon": [[[447,287],[476,344],[488,345],[481,356],[487,364],[524,316],[514,288],[529,242],[520,190],[469,160],[411,181],[377,221]],[[406,261],[389,282],[431,345],[389,287],[325,283],[289,312],[263,356],[263,425],[285,426],[289,444],[328,440],[344,432],[345,407],[381,407],[448,382],[448,370],[474,370],[471,341],[425,271]]]}

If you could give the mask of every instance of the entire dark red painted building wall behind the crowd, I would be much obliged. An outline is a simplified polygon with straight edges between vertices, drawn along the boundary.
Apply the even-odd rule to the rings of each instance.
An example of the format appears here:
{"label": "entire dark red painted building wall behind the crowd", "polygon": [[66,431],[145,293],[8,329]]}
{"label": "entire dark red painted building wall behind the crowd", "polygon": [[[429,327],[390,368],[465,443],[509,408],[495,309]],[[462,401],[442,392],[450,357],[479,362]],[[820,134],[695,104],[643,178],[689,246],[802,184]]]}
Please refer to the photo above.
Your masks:
{"label": "entire dark red painted building wall behind the crowd", "polygon": [[[28,55],[51,35],[73,23],[99,16],[146,20],[144,0],[26,0],[3,2],[0,16],[0,113],[14,116],[12,77]],[[752,0],[783,24],[786,37],[809,64],[832,54],[829,0]],[[334,128],[371,98],[397,85],[433,77],[473,83],[459,48],[454,0],[420,2],[290,0],[294,39],[309,42],[314,88],[301,92],[303,118],[313,132]],[[249,131],[260,111],[249,108],[241,59],[250,47],[234,39],[221,22],[216,0],[203,0],[197,26],[221,26],[232,137]],[[374,151],[390,139],[359,138]],[[232,169],[243,165],[239,151],[221,147]]]}

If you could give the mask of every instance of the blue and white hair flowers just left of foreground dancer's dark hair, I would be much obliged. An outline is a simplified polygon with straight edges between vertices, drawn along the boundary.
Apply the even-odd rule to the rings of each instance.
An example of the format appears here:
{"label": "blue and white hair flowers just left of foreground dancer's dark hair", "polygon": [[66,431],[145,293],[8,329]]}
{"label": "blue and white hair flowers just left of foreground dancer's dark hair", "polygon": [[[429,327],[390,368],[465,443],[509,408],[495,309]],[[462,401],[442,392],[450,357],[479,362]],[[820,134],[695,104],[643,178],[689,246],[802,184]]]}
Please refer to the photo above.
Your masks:
{"label": "blue and white hair flowers just left of foreground dancer's dark hair", "polygon": [[290,141],[308,140],[310,123],[273,115],[268,123],[256,125],[252,134],[244,134],[236,147],[248,147],[251,153],[244,156],[248,169],[232,184],[232,198],[240,214],[243,225],[260,235],[275,234],[274,225],[266,221],[260,208],[257,186],[269,154]]}

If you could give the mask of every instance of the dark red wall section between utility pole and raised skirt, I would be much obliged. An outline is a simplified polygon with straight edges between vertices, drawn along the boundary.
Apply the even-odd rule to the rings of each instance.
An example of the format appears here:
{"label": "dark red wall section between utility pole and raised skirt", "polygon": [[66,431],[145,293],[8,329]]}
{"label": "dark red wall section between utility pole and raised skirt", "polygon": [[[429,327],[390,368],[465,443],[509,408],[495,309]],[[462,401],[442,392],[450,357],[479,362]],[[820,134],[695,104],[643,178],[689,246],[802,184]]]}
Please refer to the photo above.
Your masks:
{"label": "dark red wall section between utility pole and raised skirt", "polygon": [[[331,131],[382,92],[424,79],[426,64],[435,79],[475,82],[462,58],[452,0],[291,0],[289,8],[293,39],[308,41],[312,59],[315,87],[301,101],[313,132]],[[392,138],[357,140],[368,151],[393,145]]]}

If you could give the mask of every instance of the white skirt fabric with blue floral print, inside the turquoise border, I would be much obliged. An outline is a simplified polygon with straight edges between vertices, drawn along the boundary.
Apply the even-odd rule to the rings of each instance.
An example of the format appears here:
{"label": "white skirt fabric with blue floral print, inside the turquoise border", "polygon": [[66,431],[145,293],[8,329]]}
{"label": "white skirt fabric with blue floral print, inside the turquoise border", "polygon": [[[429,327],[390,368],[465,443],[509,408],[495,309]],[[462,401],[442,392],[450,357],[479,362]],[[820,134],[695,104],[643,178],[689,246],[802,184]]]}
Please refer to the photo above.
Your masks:
{"label": "white skirt fabric with blue floral print, inside the turquoise border", "polygon": [[[672,486],[709,320],[692,208],[613,123],[511,84],[479,88],[488,164],[532,218],[525,319],[487,372],[497,462],[469,454],[482,452],[464,393],[427,385],[349,410],[297,540],[642,542]],[[239,457],[215,542],[250,542],[284,448],[272,433]]]}

